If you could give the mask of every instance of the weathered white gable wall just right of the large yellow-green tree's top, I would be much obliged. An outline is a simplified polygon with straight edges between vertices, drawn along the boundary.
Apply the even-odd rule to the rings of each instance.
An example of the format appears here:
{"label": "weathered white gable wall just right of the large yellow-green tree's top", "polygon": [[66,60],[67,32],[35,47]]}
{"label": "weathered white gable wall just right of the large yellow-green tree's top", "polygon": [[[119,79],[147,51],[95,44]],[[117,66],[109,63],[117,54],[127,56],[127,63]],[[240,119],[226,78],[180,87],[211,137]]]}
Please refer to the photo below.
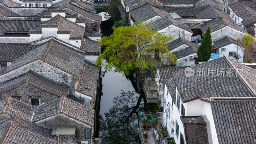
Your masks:
{"label": "weathered white gable wall just right of the large yellow-green tree's top", "polygon": [[165,32],[167,36],[173,36],[173,40],[182,37],[188,41],[191,40],[192,32],[188,32],[174,25],[169,25],[166,28],[159,30],[158,32]]}

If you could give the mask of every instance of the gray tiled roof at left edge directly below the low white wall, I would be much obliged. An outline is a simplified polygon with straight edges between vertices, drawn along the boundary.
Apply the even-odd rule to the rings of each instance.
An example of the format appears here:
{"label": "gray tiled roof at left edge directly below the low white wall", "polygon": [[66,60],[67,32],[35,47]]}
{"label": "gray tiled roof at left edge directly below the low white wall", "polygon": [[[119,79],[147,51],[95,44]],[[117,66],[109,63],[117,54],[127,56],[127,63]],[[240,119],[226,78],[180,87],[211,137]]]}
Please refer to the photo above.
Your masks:
{"label": "gray tiled roof at left edge directly below the low white wall", "polygon": [[34,48],[30,44],[0,44],[0,61],[11,62]]}

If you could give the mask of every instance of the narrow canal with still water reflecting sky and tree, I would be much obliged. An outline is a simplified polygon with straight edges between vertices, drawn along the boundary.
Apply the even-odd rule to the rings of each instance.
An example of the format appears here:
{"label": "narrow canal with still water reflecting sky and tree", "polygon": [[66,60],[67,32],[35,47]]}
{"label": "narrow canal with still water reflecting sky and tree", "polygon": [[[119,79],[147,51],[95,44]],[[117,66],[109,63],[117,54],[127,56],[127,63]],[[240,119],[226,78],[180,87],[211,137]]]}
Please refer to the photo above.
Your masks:
{"label": "narrow canal with still water reflecting sky and tree", "polygon": [[[113,31],[112,20],[102,21],[103,36]],[[103,52],[102,48],[102,52]],[[145,95],[135,73],[124,76],[122,73],[105,71],[101,68],[101,85],[96,100],[94,137],[101,144],[138,143],[138,113],[145,111]]]}

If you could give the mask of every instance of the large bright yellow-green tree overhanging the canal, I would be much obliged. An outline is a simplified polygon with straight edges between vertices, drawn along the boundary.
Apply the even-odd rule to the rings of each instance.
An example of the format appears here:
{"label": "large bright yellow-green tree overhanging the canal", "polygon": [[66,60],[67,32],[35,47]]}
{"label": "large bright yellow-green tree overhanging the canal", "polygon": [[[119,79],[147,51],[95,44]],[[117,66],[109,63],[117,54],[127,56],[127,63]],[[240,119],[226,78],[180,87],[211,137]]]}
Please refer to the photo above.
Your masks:
{"label": "large bright yellow-green tree overhanging the canal", "polygon": [[[100,41],[105,47],[96,63],[111,71],[129,74],[136,68],[147,69],[156,63],[151,57],[155,51],[166,53],[171,36],[152,31],[152,26],[144,23],[134,24],[133,27],[113,28],[113,34],[103,37]],[[168,55],[168,59],[176,62],[175,55]],[[173,60],[174,59],[174,60]]]}

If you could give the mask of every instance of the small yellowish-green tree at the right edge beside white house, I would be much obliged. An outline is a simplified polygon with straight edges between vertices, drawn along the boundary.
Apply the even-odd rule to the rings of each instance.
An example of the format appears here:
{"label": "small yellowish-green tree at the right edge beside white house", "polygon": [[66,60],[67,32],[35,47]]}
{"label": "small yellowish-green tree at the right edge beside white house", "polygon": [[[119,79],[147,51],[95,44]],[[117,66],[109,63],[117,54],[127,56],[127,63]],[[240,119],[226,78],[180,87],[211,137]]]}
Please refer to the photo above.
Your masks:
{"label": "small yellowish-green tree at the right edge beside white house", "polygon": [[248,62],[252,56],[253,49],[256,47],[256,41],[252,35],[245,34],[243,37],[237,38],[237,47],[244,52],[245,62]]}

